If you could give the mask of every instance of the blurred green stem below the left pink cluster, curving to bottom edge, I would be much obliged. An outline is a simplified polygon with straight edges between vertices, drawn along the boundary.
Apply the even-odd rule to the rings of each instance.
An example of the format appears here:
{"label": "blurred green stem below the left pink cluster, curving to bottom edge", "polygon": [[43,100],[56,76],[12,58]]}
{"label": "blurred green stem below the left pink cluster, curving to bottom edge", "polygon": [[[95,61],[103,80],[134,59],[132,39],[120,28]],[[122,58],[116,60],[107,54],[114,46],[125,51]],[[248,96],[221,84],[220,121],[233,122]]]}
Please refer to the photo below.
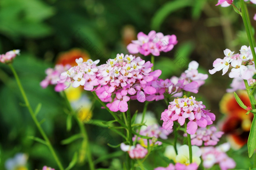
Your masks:
{"label": "blurred green stem below the left pink cluster, curving to bottom edge", "polygon": [[77,115],[75,115],[75,113],[73,111],[73,108],[71,107],[70,102],[68,101],[66,93],[63,91],[62,94],[63,94],[65,102],[68,106],[69,111],[72,113],[72,115],[74,115],[74,117],[75,117],[75,119],[76,119],[76,121],[79,125],[80,132],[83,136],[83,140],[86,143],[85,149],[86,149],[86,153],[87,153],[87,157],[88,157],[88,163],[89,163],[90,169],[94,170],[94,163],[93,163],[93,158],[91,156],[90,143],[89,143],[88,135],[87,135],[87,132],[86,132],[86,128],[85,128],[84,124],[82,123],[82,121],[78,119]]}

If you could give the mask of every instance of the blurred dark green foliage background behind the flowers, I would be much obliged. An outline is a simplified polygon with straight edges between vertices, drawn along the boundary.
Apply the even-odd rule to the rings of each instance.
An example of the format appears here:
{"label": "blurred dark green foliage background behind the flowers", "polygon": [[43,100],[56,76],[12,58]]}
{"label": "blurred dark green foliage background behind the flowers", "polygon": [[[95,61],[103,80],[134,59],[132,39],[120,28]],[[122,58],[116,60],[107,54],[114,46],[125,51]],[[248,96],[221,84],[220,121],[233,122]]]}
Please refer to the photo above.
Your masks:
{"label": "blurred dark green foliage background behind the flowers", "polygon": [[[192,60],[199,62],[200,72],[208,73],[208,69],[212,69],[212,62],[216,58],[223,58],[223,50],[229,48],[237,53],[242,45],[248,46],[241,17],[233,11],[233,7],[217,7],[216,3],[217,0],[0,1],[0,54],[12,49],[21,50],[14,67],[32,107],[42,103],[38,119],[46,120],[42,126],[65,167],[74,152],[79,150],[81,141],[69,145],[61,145],[60,141],[77,133],[78,126],[74,121],[72,130],[66,131],[64,101],[53,87],[41,89],[39,86],[45,77],[45,69],[54,66],[59,53],[80,48],[86,50],[92,59],[101,59],[101,63],[105,63],[106,59],[114,58],[117,53],[128,54],[126,46],[136,39],[138,32],[148,34],[155,30],[164,35],[175,34],[178,40],[172,51],[155,58],[155,69],[161,69],[163,73],[161,78],[179,76]],[[251,17],[256,12],[251,6],[249,11]],[[255,21],[252,24],[256,26]],[[148,57],[143,59],[150,60]],[[177,65],[175,60],[178,59],[184,62]],[[227,75],[221,76],[221,73],[208,75],[206,84],[195,96],[204,101],[207,108],[220,119],[222,115],[218,103],[231,79]],[[0,169],[4,169],[6,159],[13,157],[16,152],[29,155],[29,169],[40,169],[43,165],[57,169],[48,148],[28,138],[41,136],[22,102],[10,69],[0,63]],[[112,119],[100,109],[98,103],[95,105],[93,119]],[[156,102],[156,105],[149,109],[159,118],[165,106],[162,102]],[[132,111],[135,112],[143,105],[134,102],[133,106]],[[91,151],[96,166],[120,169],[122,162],[117,158],[124,157],[123,152],[107,146],[107,143],[122,142],[120,137],[107,128],[94,125],[86,125],[86,128],[90,141],[93,141]],[[242,153],[246,153],[246,150]],[[240,152],[232,154],[241,155]],[[240,158],[238,156],[236,159],[240,161],[237,167],[243,168],[248,160]],[[157,159],[161,162],[163,155]],[[154,166],[154,163],[152,161],[150,165]],[[76,165],[75,169],[84,169],[84,162]]]}

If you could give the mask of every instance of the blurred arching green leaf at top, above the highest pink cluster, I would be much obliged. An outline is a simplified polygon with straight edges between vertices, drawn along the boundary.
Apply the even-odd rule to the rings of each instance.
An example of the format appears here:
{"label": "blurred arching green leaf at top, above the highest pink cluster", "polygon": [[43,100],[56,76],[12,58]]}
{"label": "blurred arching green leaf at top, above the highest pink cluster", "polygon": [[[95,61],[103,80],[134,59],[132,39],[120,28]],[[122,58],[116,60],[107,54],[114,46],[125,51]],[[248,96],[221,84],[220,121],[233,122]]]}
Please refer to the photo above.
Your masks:
{"label": "blurred arching green leaf at top, above the highest pink cluster", "polygon": [[151,28],[152,30],[159,30],[163,21],[170,15],[172,12],[177,11],[178,9],[191,6],[193,1],[191,0],[175,0],[169,1],[164,4],[152,18]]}

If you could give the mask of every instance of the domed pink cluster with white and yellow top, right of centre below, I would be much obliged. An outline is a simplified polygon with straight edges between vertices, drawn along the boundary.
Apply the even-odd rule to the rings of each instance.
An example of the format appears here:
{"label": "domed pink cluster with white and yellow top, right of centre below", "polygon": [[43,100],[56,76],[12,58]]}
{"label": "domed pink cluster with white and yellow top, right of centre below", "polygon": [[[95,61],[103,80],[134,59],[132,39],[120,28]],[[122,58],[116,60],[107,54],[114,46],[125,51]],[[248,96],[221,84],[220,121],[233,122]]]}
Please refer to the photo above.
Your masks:
{"label": "domed pink cluster with white and yellow top, right of centre below", "polygon": [[183,125],[185,119],[188,119],[187,133],[193,135],[196,133],[197,126],[206,127],[215,120],[215,115],[205,110],[205,108],[203,102],[196,101],[196,98],[193,96],[176,98],[174,101],[170,102],[168,109],[162,112],[162,127],[166,130],[171,130],[173,121],[178,121],[180,125]]}

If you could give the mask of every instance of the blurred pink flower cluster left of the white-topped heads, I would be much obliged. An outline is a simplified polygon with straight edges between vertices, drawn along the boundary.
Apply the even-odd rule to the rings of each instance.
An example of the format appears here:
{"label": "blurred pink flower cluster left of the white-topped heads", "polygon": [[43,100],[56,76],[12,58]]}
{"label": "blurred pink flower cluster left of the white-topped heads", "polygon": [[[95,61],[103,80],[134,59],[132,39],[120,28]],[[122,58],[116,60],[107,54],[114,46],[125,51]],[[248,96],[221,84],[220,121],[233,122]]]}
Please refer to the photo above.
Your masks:
{"label": "blurred pink flower cluster left of the white-topped heads", "polygon": [[71,68],[71,65],[56,65],[54,69],[48,68],[45,70],[46,77],[43,81],[40,82],[42,88],[46,88],[48,85],[56,85],[54,90],[56,92],[61,92],[66,88],[66,85],[59,83],[60,74]]}

